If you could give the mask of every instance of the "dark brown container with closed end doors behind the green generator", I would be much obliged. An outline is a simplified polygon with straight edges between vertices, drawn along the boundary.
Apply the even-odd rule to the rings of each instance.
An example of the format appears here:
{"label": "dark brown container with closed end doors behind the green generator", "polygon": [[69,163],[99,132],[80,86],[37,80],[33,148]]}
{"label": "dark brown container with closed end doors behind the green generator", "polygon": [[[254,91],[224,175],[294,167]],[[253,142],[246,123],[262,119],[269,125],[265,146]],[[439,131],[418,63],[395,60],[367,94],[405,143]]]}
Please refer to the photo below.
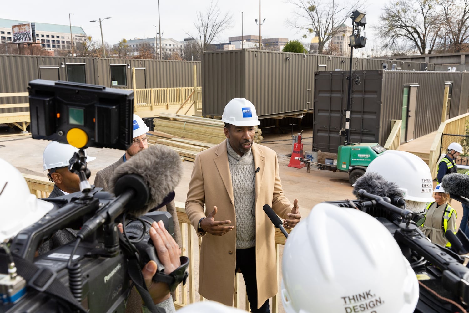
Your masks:
{"label": "dark brown container with closed end doors behind the green generator", "polygon": [[[451,86],[447,118],[467,113],[468,74],[389,70],[353,72],[351,141],[384,145],[391,132],[391,120],[401,120],[403,115],[403,125],[408,127],[401,133],[401,143],[437,130],[446,85]],[[313,149],[337,153],[338,146],[344,143],[339,131],[345,126],[347,76],[348,71],[315,73]],[[403,109],[403,103],[407,109]],[[407,113],[408,110],[410,112]]]}

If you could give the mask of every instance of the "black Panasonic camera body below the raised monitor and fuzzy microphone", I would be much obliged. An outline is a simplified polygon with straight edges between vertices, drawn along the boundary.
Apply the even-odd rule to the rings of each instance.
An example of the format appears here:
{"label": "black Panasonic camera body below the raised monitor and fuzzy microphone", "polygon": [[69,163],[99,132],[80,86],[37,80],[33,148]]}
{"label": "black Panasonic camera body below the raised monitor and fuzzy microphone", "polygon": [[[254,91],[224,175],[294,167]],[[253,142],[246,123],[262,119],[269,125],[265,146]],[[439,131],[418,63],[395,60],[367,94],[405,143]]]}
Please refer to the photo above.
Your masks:
{"label": "black Panasonic camera body below the raised monitor and fuzzy microphone", "polygon": [[[110,206],[115,198],[108,192],[95,188],[93,197],[83,200],[83,194],[76,192],[63,197],[45,199],[55,204],[55,208],[43,219],[23,229],[12,241],[11,251],[15,255],[23,256],[24,260],[32,261],[39,268],[53,273],[49,276],[42,288],[43,292],[27,288],[24,296],[13,304],[0,305],[0,312],[61,312],[70,310],[68,304],[47,293],[47,287],[58,280],[64,288],[73,290],[74,295],[80,294],[80,303],[89,312],[124,312],[125,301],[130,292],[130,277],[128,275],[129,258],[133,257],[126,249],[109,246],[111,237],[119,236],[116,223],[105,225],[93,236],[80,242],[73,254],[73,262],[78,264],[79,270],[70,271],[67,263],[75,242],[61,245],[45,254],[34,258],[37,243],[48,239],[64,228],[78,229],[84,221],[94,215],[94,210]],[[155,248],[149,241],[149,227],[153,221],[163,221],[165,228],[174,237],[173,218],[165,211],[154,211],[141,216],[146,221],[146,227],[140,221],[129,221],[125,229],[129,230],[129,237],[143,236],[144,239],[136,244],[140,254],[140,266],[143,267],[149,260],[157,262],[158,272],[164,267],[158,260]],[[108,227],[106,227],[108,226]],[[27,239],[26,241],[24,239]],[[33,245],[33,246],[28,246]],[[0,258],[0,272],[7,272],[8,260]],[[19,274],[22,270],[17,264]],[[39,273],[38,271],[38,273]],[[78,283],[76,283],[78,281]],[[28,282],[30,284],[31,282]]]}

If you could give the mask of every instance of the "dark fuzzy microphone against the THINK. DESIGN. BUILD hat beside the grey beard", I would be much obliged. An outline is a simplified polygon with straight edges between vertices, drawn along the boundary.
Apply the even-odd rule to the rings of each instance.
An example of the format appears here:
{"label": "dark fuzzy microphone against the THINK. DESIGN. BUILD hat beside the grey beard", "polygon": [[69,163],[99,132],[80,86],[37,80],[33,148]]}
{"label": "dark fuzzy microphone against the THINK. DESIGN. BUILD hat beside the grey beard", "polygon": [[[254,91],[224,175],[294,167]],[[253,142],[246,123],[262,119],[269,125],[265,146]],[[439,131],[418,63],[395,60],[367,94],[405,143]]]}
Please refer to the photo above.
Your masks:
{"label": "dark fuzzy microphone against the THINK. DESIGN. BUILD hat beside the grey beard", "polygon": [[383,176],[375,172],[365,173],[356,180],[352,193],[357,198],[362,198],[358,193],[360,189],[375,196],[388,197],[391,199],[393,205],[402,207],[406,204],[406,201],[402,198],[403,192],[401,188],[395,183],[387,181]]}

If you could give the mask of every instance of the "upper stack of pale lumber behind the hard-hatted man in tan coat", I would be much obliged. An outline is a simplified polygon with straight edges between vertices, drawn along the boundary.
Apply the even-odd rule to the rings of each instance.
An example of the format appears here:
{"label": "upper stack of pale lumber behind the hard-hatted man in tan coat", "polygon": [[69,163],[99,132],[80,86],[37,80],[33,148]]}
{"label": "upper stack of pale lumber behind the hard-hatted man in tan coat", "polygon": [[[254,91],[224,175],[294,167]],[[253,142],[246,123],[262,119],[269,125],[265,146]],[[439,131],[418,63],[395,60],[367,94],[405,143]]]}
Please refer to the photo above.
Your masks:
{"label": "upper stack of pale lumber behind the hard-hatted man in tan coat", "polygon": [[[195,139],[202,142],[219,144],[225,140],[224,123],[212,118],[160,113],[154,119],[155,130],[181,138]],[[262,132],[256,128],[254,142],[262,142]]]}

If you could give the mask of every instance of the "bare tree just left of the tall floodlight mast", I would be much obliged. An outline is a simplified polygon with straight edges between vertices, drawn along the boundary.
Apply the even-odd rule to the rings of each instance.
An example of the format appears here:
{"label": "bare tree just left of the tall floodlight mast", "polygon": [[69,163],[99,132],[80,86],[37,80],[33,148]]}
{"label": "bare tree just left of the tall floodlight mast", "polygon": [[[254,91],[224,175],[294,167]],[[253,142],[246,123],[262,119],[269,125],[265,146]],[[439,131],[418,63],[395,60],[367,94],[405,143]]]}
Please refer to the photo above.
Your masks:
{"label": "bare tree just left of the tall floodlight mast", "polygon": [[352,11],[363,7],[363,0],[337,3],[337,0],[288,0],[293,4],[295,17],[287,20],[287,25],[303,32],[303,38],[318,36],[318,54],[322,54],[325,44],[337,35],[339,26],[350,18]]}

